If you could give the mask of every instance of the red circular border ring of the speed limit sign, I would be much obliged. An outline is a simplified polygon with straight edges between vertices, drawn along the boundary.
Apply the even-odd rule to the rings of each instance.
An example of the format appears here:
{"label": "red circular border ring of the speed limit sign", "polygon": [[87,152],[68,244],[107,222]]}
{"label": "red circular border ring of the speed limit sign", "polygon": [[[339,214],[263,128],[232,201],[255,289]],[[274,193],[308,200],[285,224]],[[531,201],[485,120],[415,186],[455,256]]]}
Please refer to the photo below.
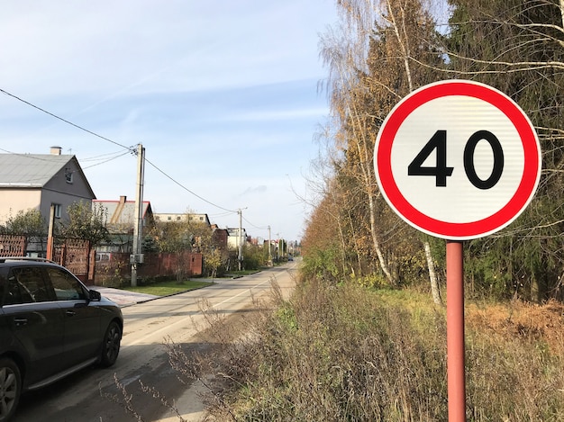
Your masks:
{"label": "red circular border ring of the speed limit sign", "polygon": [[[438,99],[451,95],[463,95],[477,98],[492,104],[507,116],[514,124],[523,142],[524,168],[523,176],[513,197],[505,206],[493,215],[477,221],[454,223],[436,220],[418,211],[405,199],[400,192],[391,166],[392,145],[397,130],[405,119],[416,108]],[[495,88],[472,81],[442,81],[425,85],[412,94],[407,95],[390,112],[378,132],[375,148],[375,164],[380,190],[387,202],[406,222],[416,229],[448,239],[469,239],[487,236],[499,229],[503,229],[516,219],[532,199],[541,175],[541,149],[531,121],[523,110],[507,95]]]}

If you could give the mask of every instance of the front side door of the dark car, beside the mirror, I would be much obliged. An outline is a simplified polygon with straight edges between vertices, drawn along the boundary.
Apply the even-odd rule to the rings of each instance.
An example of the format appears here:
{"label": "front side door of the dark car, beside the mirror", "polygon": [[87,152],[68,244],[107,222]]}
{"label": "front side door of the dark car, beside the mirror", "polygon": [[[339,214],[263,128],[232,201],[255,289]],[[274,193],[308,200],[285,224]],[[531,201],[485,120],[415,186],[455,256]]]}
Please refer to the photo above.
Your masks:
{"label": "front side door of the dark car, beside the mirror", "polygon": [[47,267],[46,272],[64,315],[64,355],[68,366],[97,357],[104,335],[100,310],[90,304],[84,285],[66,269]]}

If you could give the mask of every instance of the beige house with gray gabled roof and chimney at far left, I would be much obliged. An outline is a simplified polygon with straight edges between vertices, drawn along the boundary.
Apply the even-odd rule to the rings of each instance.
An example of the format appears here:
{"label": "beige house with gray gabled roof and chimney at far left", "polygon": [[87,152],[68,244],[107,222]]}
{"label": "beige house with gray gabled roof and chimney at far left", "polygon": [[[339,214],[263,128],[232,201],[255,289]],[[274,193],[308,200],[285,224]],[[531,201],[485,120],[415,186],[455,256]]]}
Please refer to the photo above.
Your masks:
{"label": "beige house with gray gabled roof and chimney at far left", "polygon": [[38,210],[49,221],[68,218],[68,206],[96,199],[77,157],[62,155],[60,147],[50,154],[0,154],[0,224],[19,211]]}

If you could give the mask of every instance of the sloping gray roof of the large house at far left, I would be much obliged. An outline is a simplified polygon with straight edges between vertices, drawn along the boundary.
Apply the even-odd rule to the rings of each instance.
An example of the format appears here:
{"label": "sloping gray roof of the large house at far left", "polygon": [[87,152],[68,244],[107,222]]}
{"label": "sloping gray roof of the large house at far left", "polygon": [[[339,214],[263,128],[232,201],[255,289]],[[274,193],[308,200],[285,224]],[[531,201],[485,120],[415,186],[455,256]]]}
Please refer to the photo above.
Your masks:
{"label": "sloping gray roof of the large house at far left", "polygon": [[0,154],[0,187],[42,187],[75,156]]}

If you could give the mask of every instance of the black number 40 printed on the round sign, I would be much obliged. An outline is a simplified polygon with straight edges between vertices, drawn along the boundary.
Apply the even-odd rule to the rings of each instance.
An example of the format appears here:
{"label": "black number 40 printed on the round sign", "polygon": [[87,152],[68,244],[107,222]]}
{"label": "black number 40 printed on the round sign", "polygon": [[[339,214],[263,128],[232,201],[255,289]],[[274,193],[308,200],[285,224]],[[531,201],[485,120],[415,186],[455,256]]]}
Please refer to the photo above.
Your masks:
{"label": "black number 40 printed on the round sign", "polygon": [[[494,153],[492,173],[486,180],[481,179],[477,175],[474,166],[474,153],[478,142],[482,139],[489,143]],[[431,156],[433,150],[436,151],[436,165],[423,166],[423,163],[427,157]],[[407,175],[434,175],[435,185],[443,187],[447,185],[447,177],[452,175],[453,169],[454,167],[447,166],[447,131],[437,130],[407,167]],[[490,189],[499,182],[504,171],[504,150],[501,148],[501,143],[496,138],[496,135],[487,130],[478,130],[468,139],[464,147],[464,171],[470,183],[474,184],[478,189]]]}

